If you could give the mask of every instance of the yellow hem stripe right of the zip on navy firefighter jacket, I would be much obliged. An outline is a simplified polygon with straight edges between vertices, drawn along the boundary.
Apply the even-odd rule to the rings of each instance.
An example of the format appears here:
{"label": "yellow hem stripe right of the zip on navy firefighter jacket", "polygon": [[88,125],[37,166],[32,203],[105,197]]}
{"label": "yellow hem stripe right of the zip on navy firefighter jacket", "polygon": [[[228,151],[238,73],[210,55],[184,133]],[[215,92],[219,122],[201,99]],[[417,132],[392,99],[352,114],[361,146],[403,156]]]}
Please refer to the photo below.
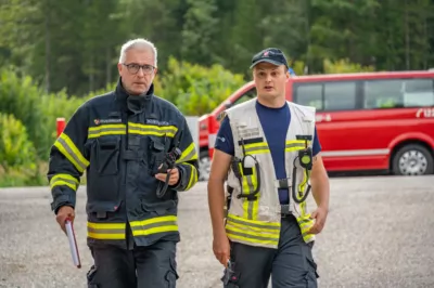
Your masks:
{"label": "yellow hem stripe right of the zip on navy firefighter jacket", "polygon": [[178,231],[177,217],[166,215],[148,220],[131,221],[133,236],[145,236],[157,233]]}

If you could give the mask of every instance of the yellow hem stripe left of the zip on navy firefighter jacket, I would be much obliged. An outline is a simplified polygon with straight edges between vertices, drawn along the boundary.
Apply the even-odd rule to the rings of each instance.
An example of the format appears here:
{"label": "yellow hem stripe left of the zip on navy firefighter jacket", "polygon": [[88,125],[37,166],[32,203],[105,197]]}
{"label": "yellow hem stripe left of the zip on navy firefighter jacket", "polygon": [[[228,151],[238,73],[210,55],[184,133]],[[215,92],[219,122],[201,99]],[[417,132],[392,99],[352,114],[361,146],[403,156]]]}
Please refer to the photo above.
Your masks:
{"label": "yellow hem stripe left of the zip on navy firefighter jacket", "polygon": [[99,240],[126,239],[125,223],[93,223],[88,222],[88,237]]}

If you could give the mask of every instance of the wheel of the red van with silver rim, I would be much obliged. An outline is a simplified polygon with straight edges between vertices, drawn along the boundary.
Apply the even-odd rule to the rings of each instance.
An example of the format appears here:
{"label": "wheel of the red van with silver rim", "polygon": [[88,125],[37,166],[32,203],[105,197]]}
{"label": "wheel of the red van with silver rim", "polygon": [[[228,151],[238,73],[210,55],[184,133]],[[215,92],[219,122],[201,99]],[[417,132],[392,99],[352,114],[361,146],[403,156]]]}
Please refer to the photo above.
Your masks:
{"label": "wheel of the red van with silver rim", "polygon": [[423,146],[409,144],[399,148],[393,158],[395,175],[426,175],[434,172],[433,155]]}

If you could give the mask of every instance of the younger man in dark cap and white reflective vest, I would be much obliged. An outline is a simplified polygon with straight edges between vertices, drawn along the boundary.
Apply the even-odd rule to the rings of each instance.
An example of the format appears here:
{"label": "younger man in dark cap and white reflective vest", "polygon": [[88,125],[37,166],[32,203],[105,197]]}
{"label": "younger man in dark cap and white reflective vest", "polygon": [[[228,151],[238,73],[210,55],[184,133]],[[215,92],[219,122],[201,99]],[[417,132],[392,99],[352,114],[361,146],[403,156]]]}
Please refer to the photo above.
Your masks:
{"label": "younger man in dark cap and white reflective vest", "polygon": [[215,145],[208,180],[214,253],[226,267],[227,288],[266,288],[270,275],[273,288],[317,287],[311,248],[328,214],[329,180],[315,108],[285,101],[290,74],[279,49],[254,55],[251,68],[257,99],[226,112]]}

